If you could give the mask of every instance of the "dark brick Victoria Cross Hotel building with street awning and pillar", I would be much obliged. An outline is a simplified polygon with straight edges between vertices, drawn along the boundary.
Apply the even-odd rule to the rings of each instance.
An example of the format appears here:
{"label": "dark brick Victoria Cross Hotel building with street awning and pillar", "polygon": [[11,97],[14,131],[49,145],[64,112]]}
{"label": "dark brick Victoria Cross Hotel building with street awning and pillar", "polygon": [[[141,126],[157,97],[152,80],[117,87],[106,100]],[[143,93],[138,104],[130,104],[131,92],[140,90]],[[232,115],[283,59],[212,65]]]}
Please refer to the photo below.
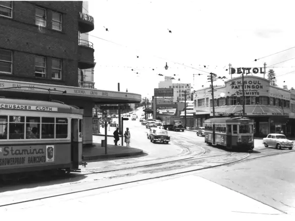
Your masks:
{"label": "dark brick Victoria Cross Hotel building with street awning and pillar", "polygon": [[81,84],[95,62],[93,44],[79,36],[93,29],[83,1],[0,1],[0,96],[83,109],[83,144],[92,143],[95,104],[141,102],[139,94]]}

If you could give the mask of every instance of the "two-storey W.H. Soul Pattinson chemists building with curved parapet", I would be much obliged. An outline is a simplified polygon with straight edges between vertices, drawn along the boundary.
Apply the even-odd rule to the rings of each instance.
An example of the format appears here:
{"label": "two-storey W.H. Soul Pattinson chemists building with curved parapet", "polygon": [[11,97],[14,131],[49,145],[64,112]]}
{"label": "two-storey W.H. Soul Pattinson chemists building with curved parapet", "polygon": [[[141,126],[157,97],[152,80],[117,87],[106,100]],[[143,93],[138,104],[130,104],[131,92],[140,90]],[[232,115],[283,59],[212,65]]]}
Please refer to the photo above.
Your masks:
{"label": "two-storey W.H. Soul Pattinson chemists building with curved parapet", "polygon": [[[223,86],[214,86],[215,117],[242,114],[242,77]],[[280,133],[295,137],[295,91],[270,85],[257,76],[244,76],[245,116],[255,120],[255,137]],[[194,96],[195,128],[213,117],[211,88],[197,90]]]}

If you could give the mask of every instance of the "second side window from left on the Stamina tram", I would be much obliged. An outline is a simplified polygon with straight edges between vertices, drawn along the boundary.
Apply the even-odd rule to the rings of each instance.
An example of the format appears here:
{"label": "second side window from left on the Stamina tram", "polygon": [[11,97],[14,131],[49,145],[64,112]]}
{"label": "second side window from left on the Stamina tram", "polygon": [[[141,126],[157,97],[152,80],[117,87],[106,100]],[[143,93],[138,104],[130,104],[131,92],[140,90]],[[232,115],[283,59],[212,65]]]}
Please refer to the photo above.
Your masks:
{"label": "second side window from left on the Stamina tram", "polygon": [[25,117],[9,116],[9,139],[25,138]]}

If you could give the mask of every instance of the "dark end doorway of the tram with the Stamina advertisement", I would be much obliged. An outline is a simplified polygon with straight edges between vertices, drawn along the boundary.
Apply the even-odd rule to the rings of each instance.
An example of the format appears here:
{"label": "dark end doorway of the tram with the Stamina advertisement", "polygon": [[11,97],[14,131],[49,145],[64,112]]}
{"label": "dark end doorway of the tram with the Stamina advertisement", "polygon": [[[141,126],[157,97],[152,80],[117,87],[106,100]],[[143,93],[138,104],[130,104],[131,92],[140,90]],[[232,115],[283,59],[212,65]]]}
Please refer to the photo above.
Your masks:
{"label": "dark end doorway of the tram with the Stamina advertisement", "polygon": [[71,162],[73,168],[79,167],[79,119],[71,120]]}

